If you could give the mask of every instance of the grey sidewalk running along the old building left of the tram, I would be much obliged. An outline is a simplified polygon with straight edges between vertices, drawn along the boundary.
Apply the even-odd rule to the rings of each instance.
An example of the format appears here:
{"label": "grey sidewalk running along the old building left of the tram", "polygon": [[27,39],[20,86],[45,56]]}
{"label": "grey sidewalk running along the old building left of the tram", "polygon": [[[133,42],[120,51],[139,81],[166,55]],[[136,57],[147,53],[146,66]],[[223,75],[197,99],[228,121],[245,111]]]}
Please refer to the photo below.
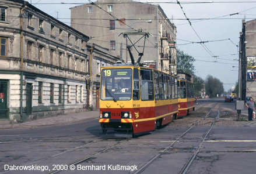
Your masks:
{"label": "grey sidewalk running along the old building left of the tram", "polygon": [[32,121],[22,122],[20,124],[0,124],[0,129],[29,129],[43,126],[68,125],[77,122],[83,122],[89,119],[99,118],[100,111],[85,111],[82,113],[72,113],[66,115],[57,115],[54,117],[47,117],[35,119]]}

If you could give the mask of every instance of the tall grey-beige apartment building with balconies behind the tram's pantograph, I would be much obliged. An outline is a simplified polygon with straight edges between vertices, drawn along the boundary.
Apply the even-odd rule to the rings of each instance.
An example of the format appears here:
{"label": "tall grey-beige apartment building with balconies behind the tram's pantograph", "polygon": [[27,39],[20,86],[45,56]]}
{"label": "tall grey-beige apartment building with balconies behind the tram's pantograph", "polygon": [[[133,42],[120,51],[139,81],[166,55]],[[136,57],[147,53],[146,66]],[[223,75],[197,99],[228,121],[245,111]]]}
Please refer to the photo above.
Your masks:
{"label": "tall grey-beige apartment building with balconies behind the tram's pantograph", "polygon": [[[126,62],[130,61],[129,54],[125,38],[120,34],[139,29],[150,32],[142,61],[155,61],[159,70],[176,74],[176,27],[159,5],[129,0],[94,3],[102,9],[90,3],[71,8],[71,27],[90,35],[89,42],[110,49],[111,55]],[[138,37],[132,37],[132,41],[136,39]],[[128,45],[131,44],[128,42]],[[143,41],[136,45],[142,50]],[[136,61],[138,53],[135,49],[132,53]]]}

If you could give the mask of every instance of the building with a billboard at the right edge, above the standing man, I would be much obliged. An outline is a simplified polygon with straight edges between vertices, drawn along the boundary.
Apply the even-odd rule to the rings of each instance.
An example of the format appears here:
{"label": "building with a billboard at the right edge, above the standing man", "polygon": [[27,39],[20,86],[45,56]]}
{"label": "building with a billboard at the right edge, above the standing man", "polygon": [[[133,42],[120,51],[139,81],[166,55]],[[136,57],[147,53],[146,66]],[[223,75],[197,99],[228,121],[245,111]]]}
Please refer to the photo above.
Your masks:
{"label": "building with a billboard at the right edge, above the standing man", "polygon": [[240,32],[241,100],[246,96],[256,99],[256,19],[242,21]]}

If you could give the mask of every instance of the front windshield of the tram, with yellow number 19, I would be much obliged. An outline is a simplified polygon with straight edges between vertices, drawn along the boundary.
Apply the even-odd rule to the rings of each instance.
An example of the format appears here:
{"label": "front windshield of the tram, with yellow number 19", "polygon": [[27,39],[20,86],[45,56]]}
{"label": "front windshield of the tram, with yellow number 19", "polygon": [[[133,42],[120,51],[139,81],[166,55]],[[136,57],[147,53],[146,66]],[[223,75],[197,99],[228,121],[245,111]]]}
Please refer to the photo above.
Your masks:
{"label": "front windshield of the tram, with yellow number 19", "polygon": [[100,89],[101,100],[131,100],[131,68],[103,69]]}

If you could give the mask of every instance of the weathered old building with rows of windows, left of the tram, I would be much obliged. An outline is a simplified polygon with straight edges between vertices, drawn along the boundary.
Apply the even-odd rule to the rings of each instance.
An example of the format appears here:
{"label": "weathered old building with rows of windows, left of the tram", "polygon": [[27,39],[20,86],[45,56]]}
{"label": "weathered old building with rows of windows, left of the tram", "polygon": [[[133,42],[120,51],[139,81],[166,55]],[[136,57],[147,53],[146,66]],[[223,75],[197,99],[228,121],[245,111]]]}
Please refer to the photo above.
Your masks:
{"label": "weathered old building with rows of windows, left of the tram", "polygon": [[0,1],[0,118],[86,110],[87,35],[26,1]]}

